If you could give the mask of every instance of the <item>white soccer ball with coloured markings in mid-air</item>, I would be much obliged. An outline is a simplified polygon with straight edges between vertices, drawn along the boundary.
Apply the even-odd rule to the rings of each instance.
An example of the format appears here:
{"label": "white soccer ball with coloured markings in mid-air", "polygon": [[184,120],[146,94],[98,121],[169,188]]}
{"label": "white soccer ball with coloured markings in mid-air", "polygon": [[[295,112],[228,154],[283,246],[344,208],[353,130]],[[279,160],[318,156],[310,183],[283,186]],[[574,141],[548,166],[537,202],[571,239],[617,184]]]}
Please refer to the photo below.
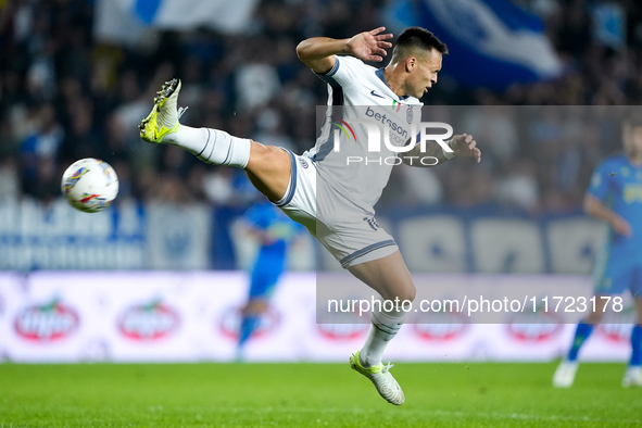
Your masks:
{"label": "white soccer ball with coloured markings in mid-air", "polygon": [[81,159],[62,175],[61,190],[76,210],[98,213],[110,206],[118,194],[118,177],[109,163]]}

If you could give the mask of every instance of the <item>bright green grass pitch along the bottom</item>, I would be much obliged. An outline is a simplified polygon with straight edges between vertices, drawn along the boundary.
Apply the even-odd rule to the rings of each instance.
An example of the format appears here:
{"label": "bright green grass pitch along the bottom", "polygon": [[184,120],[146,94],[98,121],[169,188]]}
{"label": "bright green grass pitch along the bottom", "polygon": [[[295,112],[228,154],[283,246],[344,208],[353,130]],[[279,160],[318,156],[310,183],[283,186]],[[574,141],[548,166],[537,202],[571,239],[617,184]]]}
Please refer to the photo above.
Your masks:
{"label": "bright green grass pitch along the bottom", "polygon": [[632,427],[624,364],[399,364],[396,407],[347,364],[0,364],[0,427]]}

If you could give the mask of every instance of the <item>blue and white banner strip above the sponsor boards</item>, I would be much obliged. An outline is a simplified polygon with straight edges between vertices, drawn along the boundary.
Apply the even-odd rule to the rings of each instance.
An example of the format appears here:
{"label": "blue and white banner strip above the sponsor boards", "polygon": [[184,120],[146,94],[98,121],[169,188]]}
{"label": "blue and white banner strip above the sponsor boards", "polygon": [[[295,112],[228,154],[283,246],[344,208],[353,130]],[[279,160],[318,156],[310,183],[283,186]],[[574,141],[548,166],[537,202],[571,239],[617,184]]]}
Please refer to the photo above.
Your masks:
{"label": "blue and white banner strip above the sponsor boards", "polygon": [[[62,199],[0,201],[0,269],[247,269],[257,242],[239,230],[238,217],[224,215],[204,204],[121,204],[86,214]],[[588,275],[606,236],[604,224],[580,212],[528,217],[492,207],[399,206],[377,221],[417,273]],[[315,264],[314,241],[303,235],[289,250],[289,268],[342,270],[317,251]]]}

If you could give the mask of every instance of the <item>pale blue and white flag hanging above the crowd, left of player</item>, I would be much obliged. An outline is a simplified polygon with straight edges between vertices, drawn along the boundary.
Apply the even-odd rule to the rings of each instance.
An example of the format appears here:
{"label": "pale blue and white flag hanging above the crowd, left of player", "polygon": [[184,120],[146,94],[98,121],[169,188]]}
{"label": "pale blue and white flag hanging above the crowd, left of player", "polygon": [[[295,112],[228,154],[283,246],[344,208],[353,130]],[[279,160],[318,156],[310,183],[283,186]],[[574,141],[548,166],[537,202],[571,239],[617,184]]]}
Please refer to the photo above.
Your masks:
{"label": "pale blue and white flag hanging above the crowd, left of player", "polygon": [[247,29],[259,0],[96,0],[95,35],[136,43],[148,28],[209,27],[234,34]]}

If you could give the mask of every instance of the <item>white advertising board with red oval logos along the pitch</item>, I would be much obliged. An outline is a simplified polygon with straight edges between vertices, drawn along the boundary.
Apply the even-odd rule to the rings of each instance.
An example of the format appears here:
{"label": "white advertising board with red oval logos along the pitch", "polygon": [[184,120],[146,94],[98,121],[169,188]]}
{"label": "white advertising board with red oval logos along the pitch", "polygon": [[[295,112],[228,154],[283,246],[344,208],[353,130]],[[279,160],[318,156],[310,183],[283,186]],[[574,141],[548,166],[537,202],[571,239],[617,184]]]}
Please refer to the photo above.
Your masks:
{"label": "white advertising board with red oval logos along the pitch", "polygon": [[[433,284],[444,277],[426,277]],[[361,345],[366,324],[317,324],[314,273],[290,273],[276,289],[247,361],[336,361]],[[455,287],[471,278],[449,276]],[[520,278],[479,277],[489,284]],[[559,276],[531,281],[563,284]],[[574,277],[591,290],[588,277]],[[248,278],[239,272],[38,272],[0,274],[0,361],[234,361]],[[632,316],[630,307],[628,316]],[[613,318],[608,318],[613,319]],[[607,320],[608,320],[607,319]],[[446,320],[443,318],[442,320]],[[582,350],[587,361],[624,361],[630,324],[604,324]],[[393,361],[550,361],[562,355],[574,325],[506,317],[503,324],[404,326]]]}

